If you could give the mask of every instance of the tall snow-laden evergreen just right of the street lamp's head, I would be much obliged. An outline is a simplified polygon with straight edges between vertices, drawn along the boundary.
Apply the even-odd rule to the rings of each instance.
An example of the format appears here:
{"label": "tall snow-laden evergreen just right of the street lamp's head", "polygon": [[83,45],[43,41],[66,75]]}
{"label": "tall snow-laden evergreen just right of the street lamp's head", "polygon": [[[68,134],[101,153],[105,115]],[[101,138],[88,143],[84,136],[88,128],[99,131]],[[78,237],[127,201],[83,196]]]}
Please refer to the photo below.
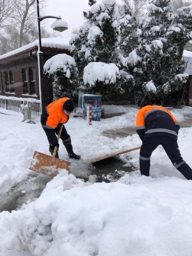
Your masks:
{"label": "tall snow-laden evergreen just right of the street lamp's head", "polygon": [[83,70],[90,62],[118,63],[119,39],[118,11],[115,0],[102,3],[89,1],[90,10],[84,12],[87,22],[78,35],[72,35],[73,56],[79,70],[79,84],[83,83]]}

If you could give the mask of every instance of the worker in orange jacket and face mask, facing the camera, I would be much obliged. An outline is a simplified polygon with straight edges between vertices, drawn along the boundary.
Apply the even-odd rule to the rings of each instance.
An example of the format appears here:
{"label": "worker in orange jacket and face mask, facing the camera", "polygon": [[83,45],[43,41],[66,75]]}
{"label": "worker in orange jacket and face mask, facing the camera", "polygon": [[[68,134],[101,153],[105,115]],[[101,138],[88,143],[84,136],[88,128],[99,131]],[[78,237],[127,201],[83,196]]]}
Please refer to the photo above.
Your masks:
{"label": "worker in orange jacket and face mask, facing the camera", "polygon": [[[49,141],[49,152],[51,154],[53,154],[55,146],[59,147],[56,134],[58,135],[61,124],[68,122],[74,108],[75,105],[73,100],[65,97],[50,103],[45,111],[42,111],[41,125],[47,135],[47,139]],[[69,157],[79,159],[81,156],[73,152],[70,135],[67,134],[67,130],[64,126],[62,128],[60,138],[67,150]],[[55,157],[58,158],[58,148]]]}

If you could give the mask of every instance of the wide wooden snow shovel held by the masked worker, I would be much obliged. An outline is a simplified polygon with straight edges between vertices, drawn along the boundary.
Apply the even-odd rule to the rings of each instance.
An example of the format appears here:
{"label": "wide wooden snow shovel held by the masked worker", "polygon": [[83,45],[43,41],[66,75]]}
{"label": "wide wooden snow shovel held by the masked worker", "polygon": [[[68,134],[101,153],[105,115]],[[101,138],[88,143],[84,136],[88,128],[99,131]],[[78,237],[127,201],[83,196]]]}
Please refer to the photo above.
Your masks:
{"label": "wide wooden snow shovel held by the masked worker", "polygon": [[[61,125],[61,128],[58,133],[58,141],[61,136],[62,128],[63,124]],[[71,163],[65,160],[61,160],[59,158],[55,158],[56,151],[57,146],[55,146],[54,148],[52,157],[47,154],[35,151],[29,169],[35,172],[41,172],[51,177],[54,177],[58,174],[58,168],[66,169],[69,172],[69,166]]]}

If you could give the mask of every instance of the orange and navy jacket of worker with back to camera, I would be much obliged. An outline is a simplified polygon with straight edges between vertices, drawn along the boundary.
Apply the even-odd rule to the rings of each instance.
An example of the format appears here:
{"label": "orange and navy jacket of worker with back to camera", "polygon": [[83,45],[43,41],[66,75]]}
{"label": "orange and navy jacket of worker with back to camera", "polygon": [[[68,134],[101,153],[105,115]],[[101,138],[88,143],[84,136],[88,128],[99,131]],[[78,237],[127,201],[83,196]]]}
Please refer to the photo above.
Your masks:
{"label": "orange and navy jacket of worker with back to camera", "polygon": [[137,113],[137,133],[148,136],[177,136],[179,125],[172,113],[161,106],[145,106]]}

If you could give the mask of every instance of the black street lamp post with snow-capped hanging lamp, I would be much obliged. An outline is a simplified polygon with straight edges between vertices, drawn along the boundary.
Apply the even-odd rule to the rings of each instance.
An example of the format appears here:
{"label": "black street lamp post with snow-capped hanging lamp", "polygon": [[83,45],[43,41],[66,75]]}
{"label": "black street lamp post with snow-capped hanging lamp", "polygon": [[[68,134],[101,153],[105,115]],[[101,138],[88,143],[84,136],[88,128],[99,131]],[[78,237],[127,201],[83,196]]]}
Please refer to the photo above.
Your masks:
{"label": "black street lamp post with snow-capped hanging lamp", "polygon": [[[40,102],[41,102],[41,113],[45,108],[45,90],[44,90],[44,84],[43,84],[43,75],[44,75],[44,60],[43,60],[43,52],[41,47],[41,26],[40,23],[42,20],[47,18],[55,18],[57,20],[61,20],[60,16],[42,16],[39,15],[39,0],[36,0],[36,6],[37,6],[37,21],[38,21],[38,75],[39,75],[39,92],[40,92]],[[55,23],[55,24],[54,24]],[[64,30],[68,29],[67,22],[63,20],[63,22],[56,24],[56,21],[54,22],[54,26],[52,27],[54,30],[57,30],[59,32],[63,32]]]}

